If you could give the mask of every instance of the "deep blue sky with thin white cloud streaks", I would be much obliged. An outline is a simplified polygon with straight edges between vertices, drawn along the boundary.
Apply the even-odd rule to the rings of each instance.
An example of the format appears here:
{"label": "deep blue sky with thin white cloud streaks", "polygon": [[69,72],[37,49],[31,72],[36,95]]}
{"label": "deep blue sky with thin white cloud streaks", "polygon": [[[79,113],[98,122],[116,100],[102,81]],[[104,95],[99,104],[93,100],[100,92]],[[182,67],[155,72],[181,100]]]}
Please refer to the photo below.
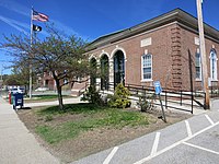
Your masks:
{"label": "deep blue sky with thin white cloud streaks", "polygon": [[[89,42],[131,27],[175,8],[197,16],[196,0],[0,0],[0,43],[4,36],[30,35],[31,8],[49,16],[57,30]],[[204,21],[219,30],[219,0],[204,0]],[[45,37],[45,23],[37,35]],[[0,71],[10,73],[11,57],[0,49]]]}

